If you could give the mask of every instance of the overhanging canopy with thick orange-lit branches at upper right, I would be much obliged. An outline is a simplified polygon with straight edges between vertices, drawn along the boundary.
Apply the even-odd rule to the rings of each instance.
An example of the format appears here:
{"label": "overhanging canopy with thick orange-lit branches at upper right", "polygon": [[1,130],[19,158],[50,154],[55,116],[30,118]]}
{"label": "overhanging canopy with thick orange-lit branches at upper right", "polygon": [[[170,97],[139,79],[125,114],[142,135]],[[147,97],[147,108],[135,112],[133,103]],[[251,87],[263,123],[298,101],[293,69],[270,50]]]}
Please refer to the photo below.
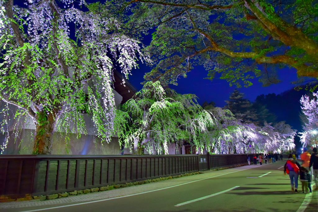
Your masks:
{"label": "overhanging canopy with thick orange-lit branches at upper right", "polygon": [[[156,66],[146,81],[176,84],[195,65],[221,73],[230,85],[278,83],[278,70],[318,77],[318,3],[315,0],[123,1],[132,32],[155,29],[145,49]],[[293,73],[293,72],[291,72]],[[305,77],[305,78],[303,78]],[[315,80],[315,79],[314,79]]]}

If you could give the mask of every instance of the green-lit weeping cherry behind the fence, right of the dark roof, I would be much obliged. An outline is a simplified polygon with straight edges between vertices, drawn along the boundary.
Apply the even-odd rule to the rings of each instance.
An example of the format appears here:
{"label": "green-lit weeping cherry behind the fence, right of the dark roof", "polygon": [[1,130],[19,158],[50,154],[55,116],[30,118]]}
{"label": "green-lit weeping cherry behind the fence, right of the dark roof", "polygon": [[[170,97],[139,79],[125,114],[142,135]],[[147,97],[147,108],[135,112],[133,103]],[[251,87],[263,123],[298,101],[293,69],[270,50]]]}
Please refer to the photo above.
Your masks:
{"label": "green-lit weeping cherry behind the fence, right of the dark roof", "polygon": [[146,83],[116,110],[114,129],[121,144],[135,152],[145,147],[149,154],[168,154],[169,142],[190,142],[203,149],[202,137],[217,120],[196,99],[193,94],[165,91],[159,81]]}

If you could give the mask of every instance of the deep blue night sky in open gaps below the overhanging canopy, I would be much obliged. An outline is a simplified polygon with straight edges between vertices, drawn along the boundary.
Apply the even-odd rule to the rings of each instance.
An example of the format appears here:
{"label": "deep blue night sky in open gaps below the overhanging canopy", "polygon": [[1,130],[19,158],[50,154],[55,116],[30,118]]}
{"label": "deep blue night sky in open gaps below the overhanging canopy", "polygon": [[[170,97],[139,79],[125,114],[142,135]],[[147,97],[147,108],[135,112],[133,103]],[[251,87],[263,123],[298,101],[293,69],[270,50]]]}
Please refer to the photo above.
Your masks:
{"label": "deep blue night sky in open gaps below the overhanging canopy", "polygon": [[[144,36],[142,42],[145,45],[149,45],[151,42],[151,33]],[[137,90],[142,89],[143,76],[145,73],[150,72],[152,67],[146,64],[139,63],[139,69],[132,70],[132,75],[129,76],[128,81],[132,83]],[[295,87],[291,82],[297,80],[296,69],[281,69],[278,71],[279,79],[281,83],[273,84],[267,87],[263,87],[262,83],[258,82],[258,78],[252,80],[253,85],[250,87],[239,88],[239,91],[245,93],[245,98],[250,101],[254,101],[260,94],[275,93],[280,94],[286,90]],[[205,70],[203,66],[197,66],[188,73],[188,77],[180,77],[177,81],[178,85],[169,85],[171,89],[175,89],[180,94],[196,94],[198,103],[202,105],[205,101],[210,103],[213,101],[217,107],[224,107],[225,100],[229,99],[229,96],[236,88],[236,86],[230,87],[226,80],[218,78],[216,75],[213,81],[204,79],[208,75],[208,70]],[[219,74],[220,76],[221,74]]]}

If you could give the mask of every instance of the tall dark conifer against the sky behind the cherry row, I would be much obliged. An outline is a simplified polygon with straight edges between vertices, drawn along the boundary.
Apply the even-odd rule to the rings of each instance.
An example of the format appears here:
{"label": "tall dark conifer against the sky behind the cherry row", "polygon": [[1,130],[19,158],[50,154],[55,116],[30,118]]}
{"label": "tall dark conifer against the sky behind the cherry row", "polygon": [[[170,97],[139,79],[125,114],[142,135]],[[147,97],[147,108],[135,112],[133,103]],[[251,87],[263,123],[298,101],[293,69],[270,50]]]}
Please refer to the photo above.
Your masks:
{"label": "tall dark conifer against the sky behind the cherry row", "polygon": [[230,96],[229,101],[225,101],[226,109],[229,109],[235,118],[241,119],[243,122],[256,122],[258,117],[256,110],[248,99],[243,98],[244,93],[240,93],[235,89]]}

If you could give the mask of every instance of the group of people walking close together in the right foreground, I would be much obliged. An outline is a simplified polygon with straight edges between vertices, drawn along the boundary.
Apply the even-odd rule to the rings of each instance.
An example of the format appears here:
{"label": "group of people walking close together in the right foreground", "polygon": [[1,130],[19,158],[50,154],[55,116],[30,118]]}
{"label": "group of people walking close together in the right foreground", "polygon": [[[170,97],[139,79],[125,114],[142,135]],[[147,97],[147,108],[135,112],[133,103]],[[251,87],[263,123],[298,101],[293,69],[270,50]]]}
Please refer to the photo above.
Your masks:
{"label": "group of people walking close together in the right foreground", "polygon": [[315,180],[315,190],[318,190],[318,155],[317,148],[313,148],[313,154],[308,153],[308,149],[304,148],[304,152],[301,154],[302,164],[296,160],[294,154],[288,156],[288,160],[284,166],[284,173],[287,173],[290,178],[290,184],[292,191],[298,193],[298,178],[300,176],[302,193],[312,192],[311,189],[311,167],[313,167],[312,174]]}

